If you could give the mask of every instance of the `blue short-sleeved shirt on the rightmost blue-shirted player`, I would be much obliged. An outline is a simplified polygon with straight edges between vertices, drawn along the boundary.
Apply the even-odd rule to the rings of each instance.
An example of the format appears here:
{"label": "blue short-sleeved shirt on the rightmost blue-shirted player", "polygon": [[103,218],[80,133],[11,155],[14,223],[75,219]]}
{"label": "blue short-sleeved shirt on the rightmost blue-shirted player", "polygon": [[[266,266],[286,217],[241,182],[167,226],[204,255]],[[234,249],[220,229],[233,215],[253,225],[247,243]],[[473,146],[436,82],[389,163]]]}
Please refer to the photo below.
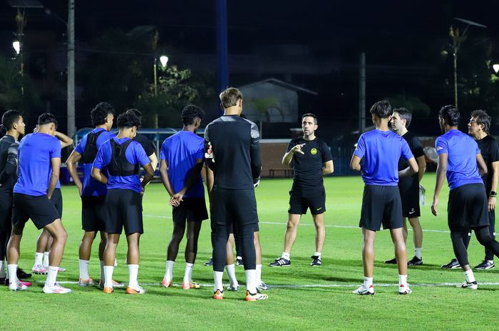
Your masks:
{"label": "blue short-sleeved shirt on the rightmost blue-shirted player", "polygon": [[476,154],[480,154],[480,149],[472,137],[459,130],[451,130],[437,138],[435,149],[438,155],[448,155],[449,189],[456,189],[465,184],[483,183],[476,164]]}

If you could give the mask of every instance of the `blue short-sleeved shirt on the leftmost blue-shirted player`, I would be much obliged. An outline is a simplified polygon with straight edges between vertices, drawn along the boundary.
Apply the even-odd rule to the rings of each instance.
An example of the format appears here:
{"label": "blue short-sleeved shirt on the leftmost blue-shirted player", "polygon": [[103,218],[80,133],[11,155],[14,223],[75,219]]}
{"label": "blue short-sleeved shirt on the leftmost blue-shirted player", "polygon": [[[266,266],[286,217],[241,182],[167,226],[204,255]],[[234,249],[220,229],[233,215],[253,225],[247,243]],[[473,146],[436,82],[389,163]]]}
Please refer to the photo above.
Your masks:
{"label": "blue short-sleeved shirt on the leftmost blue-shirted player", "polygon": [[61,142],[46,133],[30,133],[19,142],[19,179],[14,193],[47,194],[52,172],[51,159],[61,158]]}

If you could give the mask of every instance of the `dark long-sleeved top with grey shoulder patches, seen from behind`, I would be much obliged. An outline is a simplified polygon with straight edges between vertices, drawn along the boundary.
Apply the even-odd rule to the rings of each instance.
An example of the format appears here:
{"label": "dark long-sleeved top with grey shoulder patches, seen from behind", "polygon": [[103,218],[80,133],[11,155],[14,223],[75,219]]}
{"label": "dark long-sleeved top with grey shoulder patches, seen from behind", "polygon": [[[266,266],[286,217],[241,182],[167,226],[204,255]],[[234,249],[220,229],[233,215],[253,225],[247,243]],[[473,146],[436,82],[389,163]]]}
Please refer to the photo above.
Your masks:
{"label": "dark long-sleeved top with grey shoulder patches, seen from behind", "polygon": [[207,163],[213,170],[215,186],[252,189],[262,168],[257,125],[238,115],[223,115],[206,126],[205,152],[208,143],[213,159],[207,159]]}

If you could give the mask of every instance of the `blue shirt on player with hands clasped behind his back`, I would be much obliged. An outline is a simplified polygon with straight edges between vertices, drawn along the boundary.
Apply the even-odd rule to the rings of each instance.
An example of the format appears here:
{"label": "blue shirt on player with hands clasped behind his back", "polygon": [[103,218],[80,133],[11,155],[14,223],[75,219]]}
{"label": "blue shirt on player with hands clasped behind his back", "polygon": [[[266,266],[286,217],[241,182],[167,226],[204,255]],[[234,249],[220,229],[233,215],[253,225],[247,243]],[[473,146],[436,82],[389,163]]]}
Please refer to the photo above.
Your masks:
{"label": "blue shirt on player with hands clasped behind his back", "polygon": [[[205,140],[190,131],[180,131],[168,137],[161,146],[160,159],[168,162],[168,178],[173,191],[180,191],[190,177],[192,167],[197,159],[204,157]],[[201,175],[197,182],[190,186],[185,198],[203,198],[205,188],[202,186]]]}

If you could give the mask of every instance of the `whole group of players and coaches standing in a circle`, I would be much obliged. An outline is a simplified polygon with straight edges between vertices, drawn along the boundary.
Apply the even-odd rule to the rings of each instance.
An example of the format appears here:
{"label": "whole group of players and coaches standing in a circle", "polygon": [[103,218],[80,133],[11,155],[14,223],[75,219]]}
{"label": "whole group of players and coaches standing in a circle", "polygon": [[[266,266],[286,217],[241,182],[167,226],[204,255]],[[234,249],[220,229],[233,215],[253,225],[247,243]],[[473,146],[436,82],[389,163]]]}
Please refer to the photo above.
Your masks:
{"label": "whole group of players and coaches standing in a circle", "polygon": [[[220,103],[224,115],[205,127],[204,139],[196,132],[205,112],[195,105],[187,105],[182,110],[183,129],[168,137],[161,147],[159,173],[170,196],[168,204],[173,207],[173,234],[161,285],[165,288],[173,285],[173,266],[180,241],[187,232],[182,288],[200,288],[192,281],[192,268],[201,224],[208,219],[204,174],[213,248],[212,259],[205,264],[213,266],[213,298],[220,300],[225,296],[224,270],[229,277],[225,289],[240,289],[235,277],[233,246],[236,243],[237,263],[245,266],[245,300],[265,300],[268,295],[263,292],[269,286],[262,281],[262,251],[254,196],[261,171],[258,127],[242,116],[240,90],[227,88],[220,93]],[[374,241],[382,225],[391,231],[396,255],[386,263],[397,263],[398,293],[409,294],[407,266],[423,263],[423,233],[418,217],[421,216],[419,183],[426,169],[425,156],[421,142],[408,132],[411,112],[404,108],[392,110],[386,100],[375,103],[370,112],[376,128],[361,135],[350,164],[351,169],[361,172],[365,184],[359,222],[364,237],[364,283],[354,293],[374,294]],[[83,137],[66,160],[81,196],[83,238],[79,248],[78,285],[98,285],[107,294],[113,293],[114,288],[124,287],[123,283],[113,280],[115,251],[124,228],[129,273],[126,293],[143,294],[146,291],[138,284],[142,196],[153,179],[158,158],[154,146],[137,132],[141,124],[138,110],[127,110],[118,116],[118,135],[110,132],[114,116],[115,110],[108,103],[96,105],[91,111],[95,129]],[[451,189],[448,226],[456,259],[442,268],[463,268],[465,281],[460,287],[476,289],[478,285],[467,254],[470,231],[473,230],[485,246],[485,259],[475,269],[493,268],[493,255],[499,254],[494,233],[499,147],[489,135],[490,116],[486,112],[471,113],[468,123],[471,137],[458,130],[459,117],[458,110],[451,105],[442,107],[439,112],[444,134],[436,140],[438,167],[431,210],[437,214],[438,196],[447,176]],[[31,285],[20,279],[31,274],[18,268],[24,225],[31,219],[38,229],[43,229],[32,268],[34,273],[47,275],[43,292],[70,293],[70,289],[57,283],[56,277],[64,270],[60,263],[67,240],[61,222],[62,195],[58,181],[61,148],[72,145],[73,140],[57,131],[57,120],[50,113],[38,117],[34,133],[25,135],[25,126],[21,113],[4,112],[0,139],[0,280],[9,285],[10,290],[26,290]],[[334,164],[329,147],[315,135],[317,127],[316,115],[303,115],[303,137],[292,140],[282,158],[282,164],[293,168],[294,179],[289,191],[284,249],[282,256],[269,263],[271,267],[291,266],[297,227],[307,209],[316,228],[315,253],[310,266],[322,265],[321,251],[326,237],[323,176],[334,172]],[[77,162],[83,164],[83,182],[78,177]],[[145,172],[143,177],[140,177],[140,168]],[[407,261],[406,253],[406,219],[414,237],[415,255],[411,261]],[[90,277],[88,265],[98,232],[101,275],[96,281]]]}

